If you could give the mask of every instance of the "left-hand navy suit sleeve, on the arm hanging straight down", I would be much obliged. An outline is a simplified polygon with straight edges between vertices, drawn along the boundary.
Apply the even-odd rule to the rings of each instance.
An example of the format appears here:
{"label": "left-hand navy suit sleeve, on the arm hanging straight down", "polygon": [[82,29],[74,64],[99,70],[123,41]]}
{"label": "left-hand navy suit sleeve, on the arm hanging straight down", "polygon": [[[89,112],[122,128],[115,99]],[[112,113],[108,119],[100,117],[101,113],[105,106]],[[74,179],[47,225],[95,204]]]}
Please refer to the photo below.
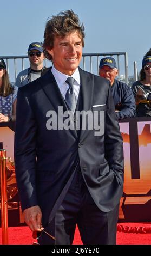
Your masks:
{"label": "left-hand navy suit sleeve, on the arm hanging straight down", "polygon": [[37,126],[28,97],[18,89],[15,131],[15,172],[22,210],[37,205],[36,132]]}

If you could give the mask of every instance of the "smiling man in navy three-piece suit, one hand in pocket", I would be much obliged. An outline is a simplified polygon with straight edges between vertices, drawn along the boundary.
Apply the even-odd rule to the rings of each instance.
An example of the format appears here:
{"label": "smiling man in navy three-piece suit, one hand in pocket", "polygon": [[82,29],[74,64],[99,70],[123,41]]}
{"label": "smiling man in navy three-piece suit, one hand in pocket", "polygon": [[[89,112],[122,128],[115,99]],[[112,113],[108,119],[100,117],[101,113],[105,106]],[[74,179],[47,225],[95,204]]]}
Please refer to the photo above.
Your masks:
{"label": "smiling man in navy three-piece suit, one hand in pocket", "polygon": [[18,90],[16,178],[40,244],[71,244],[76,224],[84,244],[116,243],[122,137],[109,81],[78,67],[83,46],[72,10],[52,16],[43,44],[52,69]]}

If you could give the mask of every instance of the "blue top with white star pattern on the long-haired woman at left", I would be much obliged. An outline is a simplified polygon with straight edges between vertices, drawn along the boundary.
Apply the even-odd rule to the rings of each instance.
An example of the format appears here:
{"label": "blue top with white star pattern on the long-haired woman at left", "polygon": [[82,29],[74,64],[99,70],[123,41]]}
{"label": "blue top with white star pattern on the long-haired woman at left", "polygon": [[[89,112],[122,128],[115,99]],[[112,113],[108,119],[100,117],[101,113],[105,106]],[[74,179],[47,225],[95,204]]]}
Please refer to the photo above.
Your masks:
{"label": "blue top with white star pattern on the long-haired woman at left", "polygon": [[0,96],[0,112],[6,116],[12,115],[13,104],[17,98],[18,88],[16,86],[13,88],[14,90],[10,95],[6,97]]}

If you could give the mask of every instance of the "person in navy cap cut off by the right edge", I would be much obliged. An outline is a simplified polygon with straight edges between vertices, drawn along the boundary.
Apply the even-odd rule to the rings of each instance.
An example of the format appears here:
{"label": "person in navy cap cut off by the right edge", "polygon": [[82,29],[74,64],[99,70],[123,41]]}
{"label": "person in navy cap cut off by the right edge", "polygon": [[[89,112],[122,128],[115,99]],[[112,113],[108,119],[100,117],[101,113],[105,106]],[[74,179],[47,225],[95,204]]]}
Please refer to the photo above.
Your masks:
{"label": "person in navy cap cut off by the right edge", "polygon": [[136,116],[151,116],[151,51],[142,59],[140,80],[132,85],[132,91],[136,101]]}

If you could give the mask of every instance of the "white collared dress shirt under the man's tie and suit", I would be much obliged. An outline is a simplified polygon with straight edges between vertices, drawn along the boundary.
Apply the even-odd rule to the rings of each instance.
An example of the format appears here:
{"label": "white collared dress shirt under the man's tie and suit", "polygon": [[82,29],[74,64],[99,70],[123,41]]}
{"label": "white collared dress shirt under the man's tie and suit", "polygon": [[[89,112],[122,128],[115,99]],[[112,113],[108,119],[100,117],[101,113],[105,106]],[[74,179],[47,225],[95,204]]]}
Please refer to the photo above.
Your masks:
{"label": "white collared dress shirt under the man's tie and suit", "polygon": [[[65,83],[65,81],[67,80],[67,78],[69,76],[61,73],[60,71],[58,71],[54,67],[54,65],[52,65],[51,72],[54,75],[55,80],[56,80],[57,85],[58,85],[58,88],[60,89],[60,92],[61,92],[62,96],[65,99],[65,94],[67,93],[67,90],[69,88],[69,84]],[[78,94],[79,94],[79,91],[80,91],[80,74],[79,74],[78,68],[75,70],[74,74],[71,75],[71,77],[73,77],[75,79],[74,93],[75,93],[76,100],[77,100],[78,99]]]}

